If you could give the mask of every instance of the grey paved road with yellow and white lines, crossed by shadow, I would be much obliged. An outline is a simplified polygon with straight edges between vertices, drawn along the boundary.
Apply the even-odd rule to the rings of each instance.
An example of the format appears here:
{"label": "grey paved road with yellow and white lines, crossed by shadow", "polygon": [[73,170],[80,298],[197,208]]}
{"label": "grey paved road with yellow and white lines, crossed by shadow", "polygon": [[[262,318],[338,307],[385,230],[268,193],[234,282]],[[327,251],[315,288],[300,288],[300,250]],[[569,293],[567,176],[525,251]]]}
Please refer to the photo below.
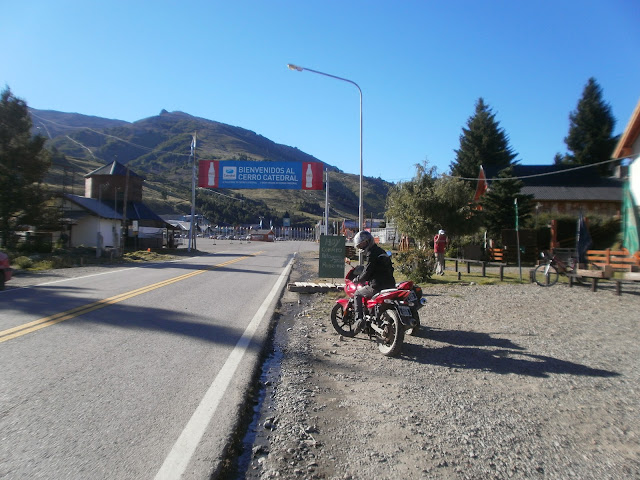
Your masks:
{"label": "grey paved road with yellow and white lines, crossed by shadow", "polygon": [[312,248],[199,239],[209,253],[182,261],[16,278],[0,292],[0,478],[209,478],[287,266]]}

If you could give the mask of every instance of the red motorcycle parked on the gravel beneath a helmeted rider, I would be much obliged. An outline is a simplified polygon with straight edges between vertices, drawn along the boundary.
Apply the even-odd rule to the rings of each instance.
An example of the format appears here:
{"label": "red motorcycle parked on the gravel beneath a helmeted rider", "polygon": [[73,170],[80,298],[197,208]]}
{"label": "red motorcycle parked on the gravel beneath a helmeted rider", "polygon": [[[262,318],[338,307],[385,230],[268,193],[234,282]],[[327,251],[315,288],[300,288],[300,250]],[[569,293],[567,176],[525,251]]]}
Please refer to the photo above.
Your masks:
{"label": "red motorcycle parked on the gravel beneath a helmeted rider", "polygon": [[[353,295],[360,286],[353,282],[364,267],[359,265],[347,272],[344,291],[347,298],[336,300],[331,309],[331,324],[340,335],[355,337],[360,333],[356,328],[356,315]],[[413,285],[412,285],[413,286]],[[378,349],[387,356],[393,357],[400,354],[405,331],[417,326],[412,304],[409,302],[410,289],[392,288],[382,290],[372,298],[364,301],[365,324],[362,331],[378,342]]]}

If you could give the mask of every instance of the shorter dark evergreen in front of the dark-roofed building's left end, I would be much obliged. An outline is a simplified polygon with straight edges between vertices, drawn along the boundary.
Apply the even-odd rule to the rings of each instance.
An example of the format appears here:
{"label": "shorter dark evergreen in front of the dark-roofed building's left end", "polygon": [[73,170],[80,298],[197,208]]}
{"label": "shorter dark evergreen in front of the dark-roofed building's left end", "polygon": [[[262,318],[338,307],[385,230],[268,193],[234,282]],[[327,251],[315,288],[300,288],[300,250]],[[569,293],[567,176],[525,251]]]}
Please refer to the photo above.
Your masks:
{"label": "shorter dark evergreen in front of the dark-roofed building's left end", "polygon": [[519,224],[522,225],[531,216],[533,195],[521,194],[522,185],[522,181],[513,178],[512,168],[505,168],[500,171],[498,179],[491,182],[491,188],[480,199],[484,224],[491,238],[499,239],[502,230],[515,228],[514,199],[518,199]]}

